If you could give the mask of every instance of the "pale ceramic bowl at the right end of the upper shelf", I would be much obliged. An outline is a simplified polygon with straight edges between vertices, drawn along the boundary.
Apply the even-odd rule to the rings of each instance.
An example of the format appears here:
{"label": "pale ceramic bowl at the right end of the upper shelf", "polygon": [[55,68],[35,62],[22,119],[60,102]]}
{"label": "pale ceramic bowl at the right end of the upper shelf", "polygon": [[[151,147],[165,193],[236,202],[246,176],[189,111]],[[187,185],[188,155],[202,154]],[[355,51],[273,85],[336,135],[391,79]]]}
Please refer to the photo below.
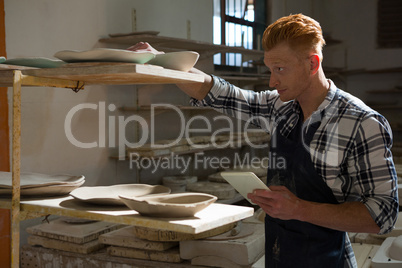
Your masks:
{"label": "pale ceramic bowl at the right end of the upper shelf", "polygon": [[148,64],[162,66],[163,68],[188,72],[196,64],[200,54],[194,51],[179,51],[157,54]]}

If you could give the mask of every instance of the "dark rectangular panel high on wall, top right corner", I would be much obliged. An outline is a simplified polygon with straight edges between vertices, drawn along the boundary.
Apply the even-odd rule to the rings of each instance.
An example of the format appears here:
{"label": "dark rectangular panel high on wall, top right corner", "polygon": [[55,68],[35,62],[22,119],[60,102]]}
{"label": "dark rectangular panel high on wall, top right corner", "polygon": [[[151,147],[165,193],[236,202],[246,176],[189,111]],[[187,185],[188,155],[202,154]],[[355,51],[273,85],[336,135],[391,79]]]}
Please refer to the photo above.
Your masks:
{"label": "dark rectangular panel high on wall, top right corner", "polygon": [[378,0],[377,44],[379,48],[402,48],[402,1]]}

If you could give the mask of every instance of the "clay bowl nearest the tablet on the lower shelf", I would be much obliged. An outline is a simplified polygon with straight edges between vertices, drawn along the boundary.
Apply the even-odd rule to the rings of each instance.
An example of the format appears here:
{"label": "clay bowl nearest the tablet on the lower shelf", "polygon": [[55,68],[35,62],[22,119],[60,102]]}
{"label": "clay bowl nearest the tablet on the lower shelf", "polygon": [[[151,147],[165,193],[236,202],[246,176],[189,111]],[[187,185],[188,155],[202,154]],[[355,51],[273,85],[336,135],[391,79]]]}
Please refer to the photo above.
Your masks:
{"label": "clay bowl nearest the tablet on the lower shelf", "polygon": [[121,200],[132,210],[144,216],[164,218],[192,217],[217,200],[203,193],[177,193],[162,196],[122,196]]}

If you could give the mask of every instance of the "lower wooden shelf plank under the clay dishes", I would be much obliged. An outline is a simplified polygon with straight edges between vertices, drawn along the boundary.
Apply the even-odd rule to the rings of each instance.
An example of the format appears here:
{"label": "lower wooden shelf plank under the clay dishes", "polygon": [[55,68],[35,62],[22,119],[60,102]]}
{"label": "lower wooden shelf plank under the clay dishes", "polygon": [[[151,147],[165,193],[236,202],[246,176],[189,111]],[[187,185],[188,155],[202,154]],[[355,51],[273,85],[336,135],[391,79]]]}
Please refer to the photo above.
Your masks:
{"label": "lower wooden shelf plank under the clay dishes", "polygon": [[[10,199],[0,199],[0,206],[11,207]],[[125,206],[96,206],[75,200],[73,197],[47,199],[21,199],[21,211],[41,215],[61,215],[91,220],[135,225],[162,230],[198,234],[253,216],[254,209],[214,203],[188,218],[145,217]]]}

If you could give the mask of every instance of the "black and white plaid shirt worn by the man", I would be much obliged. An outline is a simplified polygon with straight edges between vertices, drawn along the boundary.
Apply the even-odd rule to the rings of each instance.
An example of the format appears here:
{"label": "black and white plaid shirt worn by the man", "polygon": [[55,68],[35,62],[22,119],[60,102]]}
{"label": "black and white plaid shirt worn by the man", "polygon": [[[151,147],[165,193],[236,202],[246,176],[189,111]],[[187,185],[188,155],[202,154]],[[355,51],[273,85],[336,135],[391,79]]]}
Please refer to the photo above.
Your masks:
{"label": "black and white plaid shirt worn by the man", "polygon": [[[209,94],[202,101],[192,99],[192,105],[211,106],[251,120],[271,134],[279,120],[286,120],[278,129],[284,136],[302,116],[297,101],[282,102],[276,91],[243,90],[219,77],[213,79]],[[390,232],[399,210],[391,128],[382,115],[330,82],[325,100],[304,122],[305,129],[314,123],[319,125],[306,149],[339,203],[362,202],[380,227],[380,234]],[[348,237],[345,246],[345,267],[357,267]]]}

